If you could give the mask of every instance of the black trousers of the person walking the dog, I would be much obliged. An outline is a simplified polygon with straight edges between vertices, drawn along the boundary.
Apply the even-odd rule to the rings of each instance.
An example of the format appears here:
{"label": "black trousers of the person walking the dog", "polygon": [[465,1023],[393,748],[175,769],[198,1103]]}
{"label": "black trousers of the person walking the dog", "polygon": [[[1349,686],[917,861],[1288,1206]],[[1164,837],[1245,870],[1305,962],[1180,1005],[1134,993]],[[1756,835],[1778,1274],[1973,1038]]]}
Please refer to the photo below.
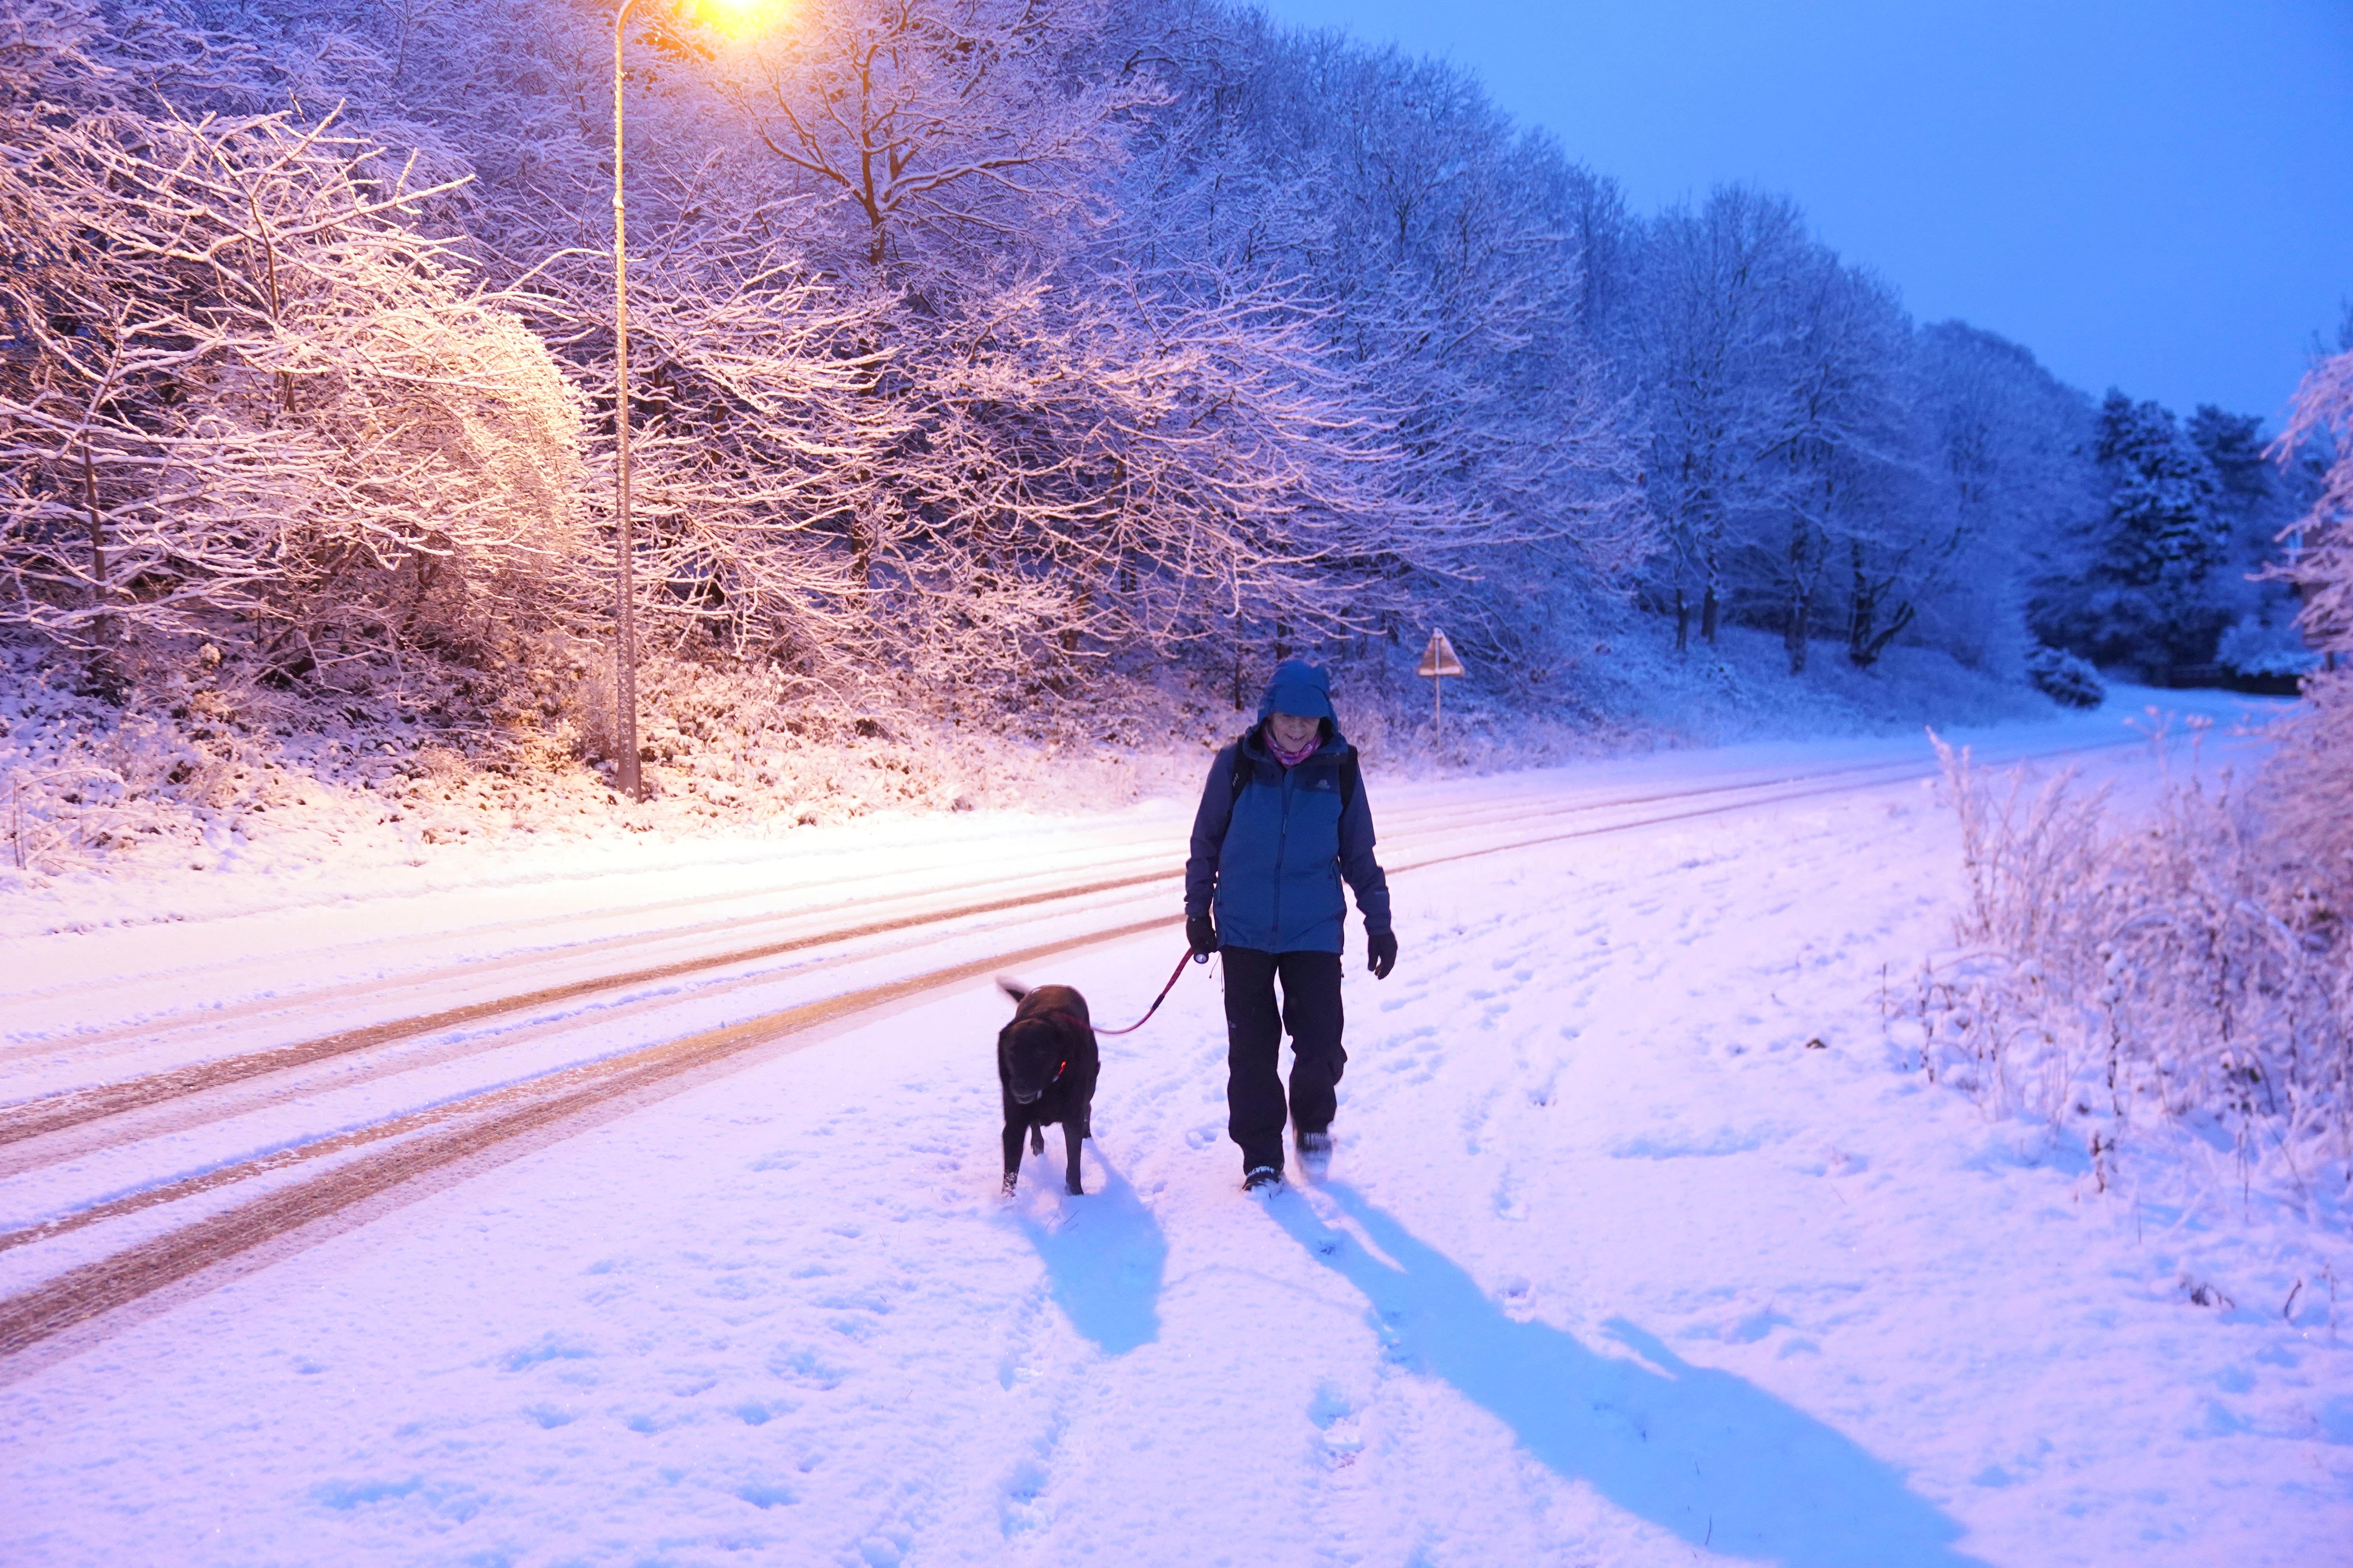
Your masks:
{"label": "black trousers of the person walking the dog", "polygon": [[[1221,947],[1226,969],[1226,1133],[1242,1171],[1282,1168],[1282,1034],[1292,1037],[1289,1119],[1301,1133],[1332,1126],[1332,1093],[1348,1053],[1339,1046],[1339,954]],[[1275,980],[1282,1009],[1275,1009]]]}

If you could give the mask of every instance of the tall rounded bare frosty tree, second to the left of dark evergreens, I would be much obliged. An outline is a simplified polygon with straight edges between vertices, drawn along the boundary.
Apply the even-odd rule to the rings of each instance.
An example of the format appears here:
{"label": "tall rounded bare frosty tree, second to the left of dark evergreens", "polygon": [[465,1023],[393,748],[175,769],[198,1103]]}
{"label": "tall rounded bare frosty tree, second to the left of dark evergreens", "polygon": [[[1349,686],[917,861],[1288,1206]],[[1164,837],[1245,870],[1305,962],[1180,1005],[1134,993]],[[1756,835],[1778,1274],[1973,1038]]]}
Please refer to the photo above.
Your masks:
{"label": "tall rounded bare frosty tree, second to the left of dark evergreens", "polygon": [[1697,609],[1706,639],[1720,616],[1779,630],[1791,672],[1831,628],[1873,665],[1958,569],[1901,303],[1739,186],[1654,219],[1631,275],[1607,341],[1647,435],[1668,538],[1649,597],[1678,646]]}

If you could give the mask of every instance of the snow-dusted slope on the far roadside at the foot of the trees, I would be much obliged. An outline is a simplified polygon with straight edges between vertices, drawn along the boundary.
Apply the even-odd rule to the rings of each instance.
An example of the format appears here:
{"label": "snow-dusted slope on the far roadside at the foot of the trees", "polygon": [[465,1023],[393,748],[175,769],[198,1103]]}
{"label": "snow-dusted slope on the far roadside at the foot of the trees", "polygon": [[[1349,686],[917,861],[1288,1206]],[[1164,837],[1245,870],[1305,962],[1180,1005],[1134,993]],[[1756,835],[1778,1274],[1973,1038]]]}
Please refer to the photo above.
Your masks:
{"label": "snow-dusted slope on the far roadside at the foot of the trees", "polygon": [[[1231,684],[1127,675],[1075,698],[1047,693],[1021,733],[991,733],[814,701],[760,672],[654,661],[640,672],[654,799],[633,804],[595,762],[612,729],[602,651],[553,651],[494,693],[421,682],[409,696],[322,703],[224,675],[193,644],[113,696],[87,693],[71,663],[0,646],[0,893],[111,875],[414,865],[452,846],[767,835],[871,813],[1111,809],[1188,795],[1207,748],[1249,719]],[[1626,614],[1534,715],[1527,693],[1452,691],[1440,750],[1414,654],[1344,670],[1348,736],[1391,776],[2059,715],[2024,684],[1927,649],[1889,649],[1873,670],[1826,656],[1791,677],[1772,635],[1725,628],[1715,649],[1680,656],[1657,621]],[[1257,679],[1245,677],[1245,703]],[[489,717],[456,717],[468,708]]]}

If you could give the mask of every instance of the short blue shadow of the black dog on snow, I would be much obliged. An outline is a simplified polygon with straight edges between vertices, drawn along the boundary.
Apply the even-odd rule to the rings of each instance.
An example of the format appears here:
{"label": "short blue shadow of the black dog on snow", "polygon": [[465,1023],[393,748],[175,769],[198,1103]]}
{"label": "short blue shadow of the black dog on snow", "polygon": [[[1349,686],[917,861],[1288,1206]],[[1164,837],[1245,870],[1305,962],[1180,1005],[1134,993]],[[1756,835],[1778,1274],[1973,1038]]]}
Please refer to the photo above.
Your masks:
{"label": "short blue shadow of the black dog on snow", "polygon": [[[1094,1145],[1089,1143],[1089,1150]],[[1059,1206],[1038,1213],[1024,1204],[1016,1213],[1021,1234],[1045,1260],[1047,1288],[1071,1326],[1104,1347],[1106,1356],[1125,1356],[1160,1338],[1160,1279],[1167,1274],[1169,1244],[1160,1220],[1111,1161],[1094,1150],[1087,1161],[1087,1197],[1059,1192]],[[1038,1164],[1040,1182],[1047,1164]]]}

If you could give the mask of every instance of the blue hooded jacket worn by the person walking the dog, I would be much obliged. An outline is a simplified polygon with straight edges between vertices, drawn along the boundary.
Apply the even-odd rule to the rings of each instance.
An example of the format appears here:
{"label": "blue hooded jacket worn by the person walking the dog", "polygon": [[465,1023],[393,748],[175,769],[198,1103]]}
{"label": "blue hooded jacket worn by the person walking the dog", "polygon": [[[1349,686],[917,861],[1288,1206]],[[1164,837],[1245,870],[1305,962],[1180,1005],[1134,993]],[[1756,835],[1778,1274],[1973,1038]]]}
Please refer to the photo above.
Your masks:
{"label": "blue hooded jacket worn by the person walking the dog", "polygon": [[[1322,719],[1322,745],[1282,766],[1266,745],[1266,715]],[[1242,788],[1233,788],[1240,762]],[[1388,877],[1372,858],[1372,806],[1362,780],[1341,811],[1344,773],[1355,748],[1339,733],[1332,679],[1301,658],[1285,658],[1259,698],[1259,722],[1209,764],[1193,816],[1193,853],[1184,867],[1184,910],[1217,910],[1219,940],[1259,952],[1341,952],[1355,889],[1365,931],[1388,931]]]}

